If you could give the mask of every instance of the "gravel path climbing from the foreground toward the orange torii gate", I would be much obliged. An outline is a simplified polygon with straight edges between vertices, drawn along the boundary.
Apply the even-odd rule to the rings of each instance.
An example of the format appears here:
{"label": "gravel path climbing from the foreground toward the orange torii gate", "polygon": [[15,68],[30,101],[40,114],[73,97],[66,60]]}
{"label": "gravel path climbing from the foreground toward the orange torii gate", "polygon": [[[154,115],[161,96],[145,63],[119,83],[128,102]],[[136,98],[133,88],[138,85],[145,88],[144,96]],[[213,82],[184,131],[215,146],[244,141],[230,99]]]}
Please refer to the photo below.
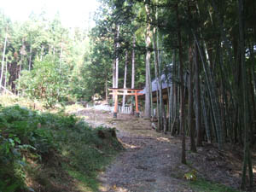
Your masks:
{"label": "gravel path climbing from the foreground toward the orange torii gate", "polygon": [[176,178],[177,169],[186,169],[177,163],[180,162],[179,141],[155,132],[147,120],[128,118],[113,120],[126,150],[100,175],[100,191],[193,191],[183,179]]}

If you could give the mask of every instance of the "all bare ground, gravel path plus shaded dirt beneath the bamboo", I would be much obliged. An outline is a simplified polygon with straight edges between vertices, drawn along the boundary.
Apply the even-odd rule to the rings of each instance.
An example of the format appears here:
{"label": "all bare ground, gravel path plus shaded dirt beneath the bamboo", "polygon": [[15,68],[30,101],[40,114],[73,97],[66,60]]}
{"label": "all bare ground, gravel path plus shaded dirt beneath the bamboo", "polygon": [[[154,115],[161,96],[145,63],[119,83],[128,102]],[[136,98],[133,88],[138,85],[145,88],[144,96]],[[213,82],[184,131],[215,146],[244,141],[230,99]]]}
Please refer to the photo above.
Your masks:
{"label": "all bare ground, gravel path plus shaded dirt beneath the bamboo", "polygon": [[[120,113],[113,119],[112,113],[91,109],[76,114],[92,126],[115,127],[125,147],[100,173],[101,192],[239,191],[242,148],[227,144],[226,150],[219,151],[205,143],[192,153],[187,145],[187,165],[183,165],[181,138],[154,131],[149,120]],[[253,154],[253,165],[255,160]],[[189,181],[185,175],[196,179]]]}

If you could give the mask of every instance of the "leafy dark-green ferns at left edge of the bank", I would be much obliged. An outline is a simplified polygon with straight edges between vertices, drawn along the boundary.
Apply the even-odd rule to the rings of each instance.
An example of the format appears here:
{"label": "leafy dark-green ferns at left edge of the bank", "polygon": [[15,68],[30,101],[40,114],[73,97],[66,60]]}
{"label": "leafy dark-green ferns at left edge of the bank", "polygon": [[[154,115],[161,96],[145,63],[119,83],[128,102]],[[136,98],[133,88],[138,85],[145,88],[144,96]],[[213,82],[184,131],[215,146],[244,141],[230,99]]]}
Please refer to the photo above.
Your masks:
{"label": "leafy dark-green ferns at left edge of the bank", "polygon": [[54,148],[52,135],[39,123],[38,114],[26,108],[0,108],[0,191],[25,187],[26,152],[41,156]]}

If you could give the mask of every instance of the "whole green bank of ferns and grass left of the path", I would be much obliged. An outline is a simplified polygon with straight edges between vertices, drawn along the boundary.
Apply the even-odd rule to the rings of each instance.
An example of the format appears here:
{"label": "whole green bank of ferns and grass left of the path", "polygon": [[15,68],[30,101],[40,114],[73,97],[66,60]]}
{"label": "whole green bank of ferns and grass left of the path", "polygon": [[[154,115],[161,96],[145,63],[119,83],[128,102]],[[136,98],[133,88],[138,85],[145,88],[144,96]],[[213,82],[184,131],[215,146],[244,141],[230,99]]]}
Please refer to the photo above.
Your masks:
{"label": "whole green bank of ferns and grass left of the path", "polygon": [[121,149],[113,132],[73,115],[0,105],[0,192],[97,191],[97,173]]}

